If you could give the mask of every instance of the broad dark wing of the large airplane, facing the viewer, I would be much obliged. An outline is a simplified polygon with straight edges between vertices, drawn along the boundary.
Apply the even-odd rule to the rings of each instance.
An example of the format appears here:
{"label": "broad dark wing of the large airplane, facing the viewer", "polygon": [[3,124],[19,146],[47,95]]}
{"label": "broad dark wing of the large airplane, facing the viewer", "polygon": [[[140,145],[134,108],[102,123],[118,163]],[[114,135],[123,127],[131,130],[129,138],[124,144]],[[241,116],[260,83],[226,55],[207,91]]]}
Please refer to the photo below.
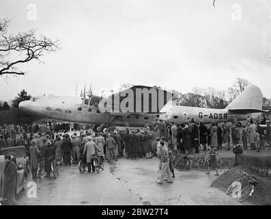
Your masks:
{"label": "broad dark wing of the large airplane, facing the viewer", "polygon": [[109,99],[113,100],[112,105],[119,106],[116,110],[113,107],[111,114],[122,113],[122,107],[129,108],[129,113],[126,114],[160,114],[160,110],[172,97],[172,92],[157,87],[132,86],[109,96]]}

